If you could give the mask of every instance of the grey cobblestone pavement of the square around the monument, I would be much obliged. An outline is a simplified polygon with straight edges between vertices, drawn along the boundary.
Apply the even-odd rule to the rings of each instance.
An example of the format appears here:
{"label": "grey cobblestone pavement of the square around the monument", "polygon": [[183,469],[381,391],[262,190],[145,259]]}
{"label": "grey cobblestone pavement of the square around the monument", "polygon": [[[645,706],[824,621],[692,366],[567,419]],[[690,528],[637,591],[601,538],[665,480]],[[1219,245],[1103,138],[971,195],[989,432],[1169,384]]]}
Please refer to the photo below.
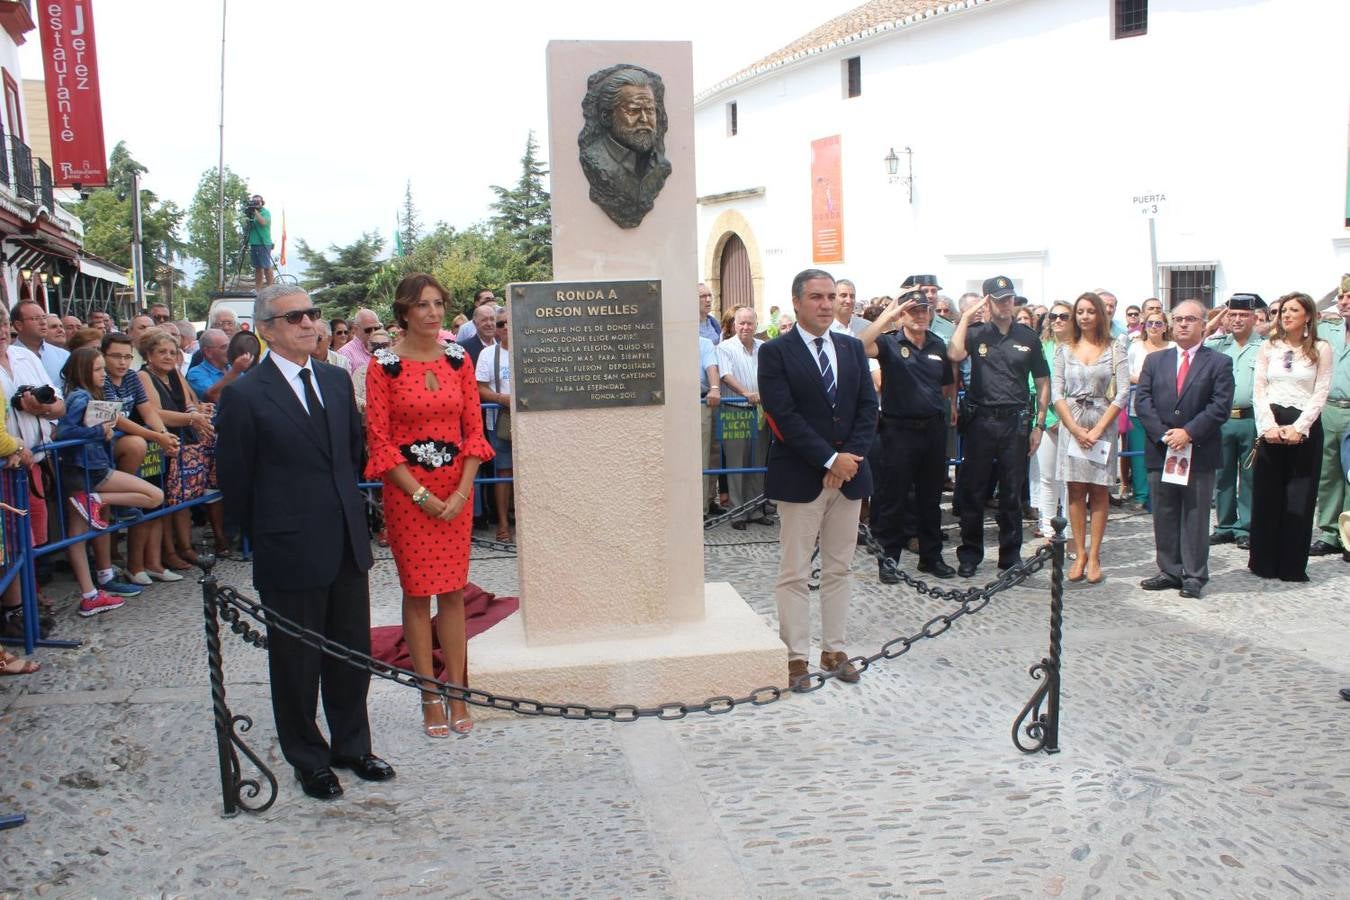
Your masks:
{"label": "grey cobblestone pavement of the square around the monument", "polygon": [[[772,538],[722,526],[706,553],[707,579],[768,622]],[[0,833],[0,893],[1350,896],[1350,565],[1270,584],[1220,546],[1188,602],[1137,587],[1146,518],[1118,517],[1107,540],[1107,582],[1066,591],[1057,756],[1010,742],[1045,652],[1045,575],[859,685],[717,718],[493,719],[432,742],[416,698],[377,681],[375,749],[398,777],[344,777],[336,803],[300,792],[265,654],[228,636],[231,703],[281,781],[269,812],[235,819],[220,816],[196,586],[90,621],[66,610],[58,633],[84,645],[0,680],[0,811],[28,815]],[[247,586],[244,564],[220,568]],[[948,609],[879,584],[861,553],[856,572],[855,653]],[[514,591],[510,559],[471,576]],[[396,622],[393,564],[371,582],[377,623]]]}

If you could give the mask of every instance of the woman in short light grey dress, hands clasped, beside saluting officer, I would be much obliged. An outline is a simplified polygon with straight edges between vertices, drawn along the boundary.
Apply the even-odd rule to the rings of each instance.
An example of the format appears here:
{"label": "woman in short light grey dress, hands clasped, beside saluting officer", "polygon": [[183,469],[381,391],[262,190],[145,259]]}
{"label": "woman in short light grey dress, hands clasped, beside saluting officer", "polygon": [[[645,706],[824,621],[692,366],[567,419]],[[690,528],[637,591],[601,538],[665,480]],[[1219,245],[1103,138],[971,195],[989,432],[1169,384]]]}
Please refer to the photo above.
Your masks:
{"label": "woman in short light grey dress, hands clasped, beside saluting officer", "polygon": [[1073,528],[1076,559],[1069,580],[1087,578],[1089,584],[1100,584],[1102,540],[1116,468],[1116,416],[1130,393],[1130,363],[1125,341],[1111,340],[1111,318],[1098,294],[1089,291],[1073,301],[1072,322],[1069,343],[1056,352],[1050,387],[1054,412],[1060,414],[1056,466],[1068,490]]}

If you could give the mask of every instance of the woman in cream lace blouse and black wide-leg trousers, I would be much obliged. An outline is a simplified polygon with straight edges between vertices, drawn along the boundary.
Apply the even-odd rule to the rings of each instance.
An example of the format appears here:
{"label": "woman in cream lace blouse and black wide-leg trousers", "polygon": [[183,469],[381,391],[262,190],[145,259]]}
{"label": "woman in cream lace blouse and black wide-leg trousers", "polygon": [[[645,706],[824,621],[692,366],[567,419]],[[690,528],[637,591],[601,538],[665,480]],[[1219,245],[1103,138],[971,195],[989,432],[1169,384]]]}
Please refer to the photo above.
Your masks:
{"label": "woman in cream lace blouse and black wide-leg trousers", "polygon": [[1257,418],[1247,568],[1281,582],[1308,580],[1308,536],[1322,476],[1322,407],[1331,390],[1331,344],[1318,337],[1318,308],[1303,293],[1278,300],[1270,337],[1257,351]]}

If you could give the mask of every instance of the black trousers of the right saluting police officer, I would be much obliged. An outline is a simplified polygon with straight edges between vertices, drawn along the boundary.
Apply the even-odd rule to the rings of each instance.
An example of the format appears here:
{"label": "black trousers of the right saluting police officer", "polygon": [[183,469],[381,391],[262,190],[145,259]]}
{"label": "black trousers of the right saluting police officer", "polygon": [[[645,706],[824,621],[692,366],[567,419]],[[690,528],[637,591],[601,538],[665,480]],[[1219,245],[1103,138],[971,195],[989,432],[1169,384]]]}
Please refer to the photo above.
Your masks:
{"label": "black trousers of the right saluting police officer", "polygon": [[1027,472],[1026,416],[994,416],[976,412],[965,429],[965,460],[961,466],[961,563],[984,559],[984,498],[998,474],[999,568],[1015,565],[1022,557],[1022,486]]}

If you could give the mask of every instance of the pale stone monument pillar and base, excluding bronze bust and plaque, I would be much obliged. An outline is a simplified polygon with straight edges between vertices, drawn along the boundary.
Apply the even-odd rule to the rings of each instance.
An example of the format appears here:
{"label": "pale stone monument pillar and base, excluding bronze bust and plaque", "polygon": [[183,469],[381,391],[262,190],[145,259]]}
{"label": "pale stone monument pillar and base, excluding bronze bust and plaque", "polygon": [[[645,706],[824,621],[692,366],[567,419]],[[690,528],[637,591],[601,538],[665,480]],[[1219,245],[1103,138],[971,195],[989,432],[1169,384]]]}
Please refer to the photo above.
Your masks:
{"label": "pale stone monument pillar and base, excluding bronze bust and plaque", "polygon": [[[632,228],[591,201],[578,146],[587,78],[617,63],[662,77],[670,123],[671,173]],[[473,641],[470,681],[591,706],[786,683],[776,633],[729,584],[703,583],[690,45],[551,42],[548,100],[554,279],[659,282],[664,402],[516,406],[521,614]],[[513,366],[529,325],[512,312]]]}

